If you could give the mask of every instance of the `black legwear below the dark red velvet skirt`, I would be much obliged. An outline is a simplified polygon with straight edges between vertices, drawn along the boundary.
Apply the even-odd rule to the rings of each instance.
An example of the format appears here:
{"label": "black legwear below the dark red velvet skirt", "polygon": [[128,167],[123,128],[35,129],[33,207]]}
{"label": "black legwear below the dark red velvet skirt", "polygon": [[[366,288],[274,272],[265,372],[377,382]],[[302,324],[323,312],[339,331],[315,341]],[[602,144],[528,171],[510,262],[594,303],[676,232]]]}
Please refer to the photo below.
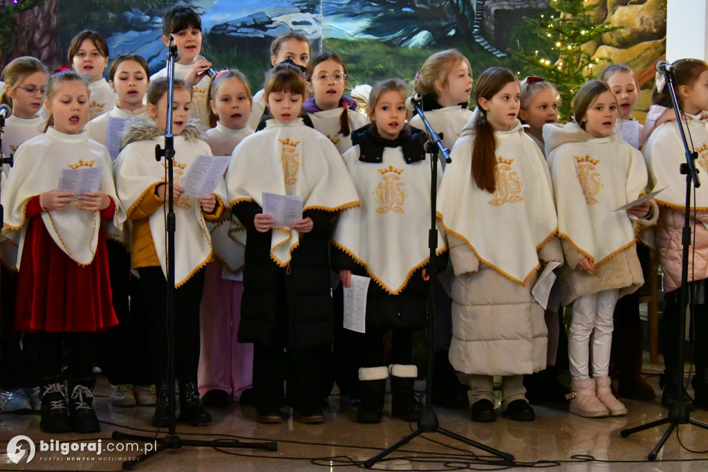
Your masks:
{"label": "black legwear below the dark red velvet skirt", "polygon": [[[96,364],[96,332],[38,333],[39,358],[42,377],[93,378]],[[62,356],[63,352],[63,356]]]}

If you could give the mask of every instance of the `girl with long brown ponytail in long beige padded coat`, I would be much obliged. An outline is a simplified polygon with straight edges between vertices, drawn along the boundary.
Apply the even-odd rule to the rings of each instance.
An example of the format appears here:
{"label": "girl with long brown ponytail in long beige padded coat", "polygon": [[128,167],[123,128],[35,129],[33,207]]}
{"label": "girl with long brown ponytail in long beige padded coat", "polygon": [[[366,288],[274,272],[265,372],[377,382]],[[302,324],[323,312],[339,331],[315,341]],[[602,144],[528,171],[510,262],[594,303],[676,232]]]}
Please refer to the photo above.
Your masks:
{"label": "girl with long brown ponytail in long beige padded coat", "polygon": [[531,288],[542,264],[563,260],[553,189],[543,154],[516,117],[513,72],[486,69],[475,95],[438,197],[455,272],[450,364],[470,388],[473,421],[496,420],[493,376],[502,376],[503,416],[530,421],[523,374],[545,368],[547,343]]}

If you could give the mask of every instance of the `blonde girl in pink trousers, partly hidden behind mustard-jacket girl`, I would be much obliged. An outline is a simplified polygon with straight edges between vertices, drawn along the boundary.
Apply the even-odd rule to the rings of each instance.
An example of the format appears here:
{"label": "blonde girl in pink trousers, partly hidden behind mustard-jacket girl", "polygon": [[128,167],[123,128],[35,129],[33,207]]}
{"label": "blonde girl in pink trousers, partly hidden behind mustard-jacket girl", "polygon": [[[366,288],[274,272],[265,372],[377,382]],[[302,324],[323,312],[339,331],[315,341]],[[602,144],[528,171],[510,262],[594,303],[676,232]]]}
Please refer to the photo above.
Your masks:
{"label": "blonde girl in pink trousers, partly hidden behind mustard-jacket girl", "polygon": [[[210,125],[204,140],[216,156],[230,156],[239,142],[253,134],[247,121],[251,89],[236,69],[219,72],[207,94]],[[212,227],[217,262],[207,265],[200,307],[201,352],[199,391],[206,406],[224,407],[240,400],[253,383],[253,344],[239,343],[241,295],[244,293],[244,235],[246,228],[232,215]]]}

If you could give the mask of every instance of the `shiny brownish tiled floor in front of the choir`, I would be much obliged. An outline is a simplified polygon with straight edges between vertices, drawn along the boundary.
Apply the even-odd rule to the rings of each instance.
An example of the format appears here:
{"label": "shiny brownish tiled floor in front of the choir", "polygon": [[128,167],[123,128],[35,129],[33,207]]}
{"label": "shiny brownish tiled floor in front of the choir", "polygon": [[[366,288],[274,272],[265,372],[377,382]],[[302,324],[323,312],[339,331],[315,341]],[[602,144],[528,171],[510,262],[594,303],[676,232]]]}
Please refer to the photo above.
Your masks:
{"label": "shiny brownish tiled floor in front of the choir", "polygon": [[[649,381],[656,386],[658,378],[651,375],[653,368],[645,364]],[[422,387],[422,386],[421,386]],[[658,387],[657,391],[658,391]],[[101,378],[96,388],[98,396],[98,416],[103,421],[103,431],[92,434],[91,438],[76,434],[50,435],[39,429],[36,415],[3,415],[0,417],[0,451],[5,452],[7,442],[18,434],[24,434],[35,444],[51,439],[65,442],[83,440],[97,444],[101,439],[103,454],[93,451],[61,452],[40,451],[30,463],[15,465],[2,459],[0,470],[121,470],[120,458],[133,454],[106,452],[115,429],[129,431],[126,427],[144,429],[148,435],[154,434],[149,428],[152,408],[115,408],[108,404],[107,384]],[[530,470],[542,465],[554,466],[552,470],[586,471],[707,471],[708,454],[693,454],[683,449],[673,434],[661,451],[659,460],[646,462],[665,427],[651,429],[622,438],[619,431],[625,427],[641,425],[666,415],[659,400],[638,402],[627,400],[627,417],[590,420],[570,415],[567,411],[554,408],[536,407],[534,422],[519,423],[501,417],[495,423],[475,424],[469,421],[466,410],[436,410],[440,426],[464,437],[481,442],[496,449],[513,454],[518,469]],[[229,409],[212,409],[214,422],[208,427],[184,427],[178,425],[178,434],[183,439],[212,439],[236,437],[244,441],[277,441],[278,451],[258,451],[253,449],[195,448],[184,446],[178,450],[166,451],[139,464],[136,470],[144,471],[324,471],[327,468],[353,470],[352,461],[364,461],[377,454],[407,434],[409,424],[384,417],[380,425],[358,425],[353,422],[354,412],[348,405],[340,405],[337,397],[332,397],[326,412],[325,425],[302,425],[295,420],[287,420],[281,425],[259,425],[255,421],[255,410],[251,407],[233,405]],[[697,410],[692,413],[697,420],[708,422],[708,412]],[[708,431],[693,426],[679,429],[680,440],[688,449],[708,449]],[[161,432],[159,437],[164,437]],[[438,443],[435,443],[435,442]],[[79,444],[80,446],[80,444]],[[60,445],[59,448],[62,446]],[[67,447],[67,446],[64,446]],[[457,449],[455,449],[457,448]],[[475,458],[474,454],[479,454]],[[470,448],[442,434],[426,434],[403,446],[395,454],[394,460],[383,461],[376,468],[387,470],[498,470],[502,464],[485,465],[479,458],[486,454]],[[595,461],[573,460],[573,456],[592,456]],[[321,458],[316,460],[316,458]],[[79,460],[76,460],[79,459]],[[89,460],[86,460],[89,459]],[[93,460],[90,460],[93,459]],[[551,461],[539,463],[537,461]]]}

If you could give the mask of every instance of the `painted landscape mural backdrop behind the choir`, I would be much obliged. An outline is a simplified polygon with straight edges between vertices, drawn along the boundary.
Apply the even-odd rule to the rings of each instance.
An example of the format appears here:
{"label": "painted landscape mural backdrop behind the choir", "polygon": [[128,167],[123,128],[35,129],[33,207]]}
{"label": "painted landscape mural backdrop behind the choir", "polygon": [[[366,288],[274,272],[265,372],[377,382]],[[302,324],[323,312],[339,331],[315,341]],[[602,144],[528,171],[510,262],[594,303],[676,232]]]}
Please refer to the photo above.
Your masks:
{"label": "painted landscape mural backdrop behind the choir", "polygon": [[[202,16],[202,55],[217,69],[241,69],[253,89],[260,87],[270,67],[271,40],[288,29],[306,33],[315,51],[341,55],[350,87],[386,77],[411,80],[428,55],[447,47],[467,55],[475,76],[491,65],[510,67],[524,76],[523,66],[506,51],[520,45],[527,50],[535,47],[537,38],[523,16],[549,12],[549,0],[34,1],[35,9],[17,16],[13,40],[4,44],[0,64],[30,54],[56,67],[66,62],[72,36],[92,28],[105,35],[111,56],[136,52],[158,70],[165,56],[161,18],[172,6],[185,4]],[[598,4],[597,21],[624,27],[586,45],[598,57],[627,62],[638,73],[661,57],[666,46],[666,0],[585,1]],[[0,6],[4,4],[8,2],[0,0]],[[646,93],[641,102],[648,106]]]}

